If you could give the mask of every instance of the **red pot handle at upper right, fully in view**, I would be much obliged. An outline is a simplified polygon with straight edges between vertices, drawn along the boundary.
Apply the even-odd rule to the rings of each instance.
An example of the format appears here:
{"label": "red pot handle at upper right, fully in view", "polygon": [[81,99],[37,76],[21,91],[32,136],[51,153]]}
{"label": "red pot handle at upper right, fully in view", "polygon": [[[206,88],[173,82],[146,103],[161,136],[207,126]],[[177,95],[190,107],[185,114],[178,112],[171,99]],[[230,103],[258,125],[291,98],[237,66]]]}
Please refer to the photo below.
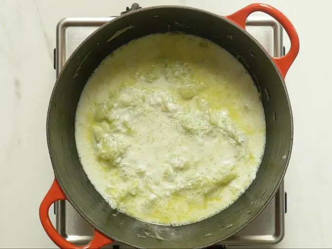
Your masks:
{"label": "red pot handle at upper right, fully in view", "polygon": [[290,51],[279,58],[272,58],[274,63],[277,65],[279,68],[281,75],[285,78],[288,69],[290,68],[290,65],[293,63],[295,60],[299,49],[300,49],[300,41],[299,37],[297,35],[297,32],[291,24],[290,20],[279,10],[276,8],[264,4],[264,3],[253,3],[249,4],[248,6],[244,7],[243,9],[240,9],[236,11],[235,13],[226,16],[230,21],[235,22],[239,26],[241,26],[243,29],[246,28],[246,20],[249,17],[249,15],[253,12],[256,11],[261,11],[264,12],[271,17],[273,17],[275,20],[277,20],[283,28],[286,30],[288,36],[290,37]]}

